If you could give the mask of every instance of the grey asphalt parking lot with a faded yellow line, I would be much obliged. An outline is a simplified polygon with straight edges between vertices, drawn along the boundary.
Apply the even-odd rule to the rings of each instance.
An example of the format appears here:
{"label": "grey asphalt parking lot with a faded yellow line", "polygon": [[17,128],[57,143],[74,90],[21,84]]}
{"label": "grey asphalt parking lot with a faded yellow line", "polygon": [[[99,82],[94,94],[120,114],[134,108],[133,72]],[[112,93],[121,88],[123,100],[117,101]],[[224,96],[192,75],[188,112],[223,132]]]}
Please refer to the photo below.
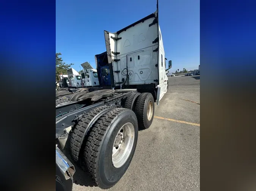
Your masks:
{"label": "grey asphalt parking lot with a faded yellow line", "polygon": [[[200,76],[168,79],[152,125],[139,131],[129,168],[109,190],[200,190]],[[102,190],[75,167],[73,191]]]}

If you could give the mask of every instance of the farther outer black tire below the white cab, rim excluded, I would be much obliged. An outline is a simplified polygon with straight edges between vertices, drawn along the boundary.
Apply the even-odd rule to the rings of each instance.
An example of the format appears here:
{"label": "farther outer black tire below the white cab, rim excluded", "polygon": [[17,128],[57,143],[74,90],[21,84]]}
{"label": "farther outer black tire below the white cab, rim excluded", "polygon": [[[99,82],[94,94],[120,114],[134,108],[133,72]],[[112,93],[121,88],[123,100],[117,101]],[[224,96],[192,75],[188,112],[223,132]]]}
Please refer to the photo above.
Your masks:
{"label": "farther outer black tire below the white cab, rim excluded", "polygon": [[[148,103],[150,100],[153,103],[153,115],[151,117],[151,120],[148,120],[147,109],[148,109]],[[148,129],[150,127],[154,119],[154,112],[155,112],[155,104],[154,104],[153,95],[151,93],[142,93],[141,95],[139,95],[136,102],[135,114],[137,116],[138,124],[140,128]]]}

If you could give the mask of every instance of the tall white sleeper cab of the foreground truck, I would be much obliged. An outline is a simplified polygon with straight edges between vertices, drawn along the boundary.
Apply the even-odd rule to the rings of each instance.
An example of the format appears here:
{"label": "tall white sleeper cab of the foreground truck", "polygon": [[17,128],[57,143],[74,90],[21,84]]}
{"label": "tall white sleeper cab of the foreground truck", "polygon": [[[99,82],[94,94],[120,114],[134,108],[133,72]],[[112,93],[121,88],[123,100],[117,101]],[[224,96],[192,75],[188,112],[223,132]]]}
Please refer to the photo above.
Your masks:
{"label": "tall white sleeper cab of the foreground truck", "polygon": [[158,8],[132,25],[114,33],[104,31],[104,35],[112,87],[151,92],[159,105],[168,90],[168,77]]}

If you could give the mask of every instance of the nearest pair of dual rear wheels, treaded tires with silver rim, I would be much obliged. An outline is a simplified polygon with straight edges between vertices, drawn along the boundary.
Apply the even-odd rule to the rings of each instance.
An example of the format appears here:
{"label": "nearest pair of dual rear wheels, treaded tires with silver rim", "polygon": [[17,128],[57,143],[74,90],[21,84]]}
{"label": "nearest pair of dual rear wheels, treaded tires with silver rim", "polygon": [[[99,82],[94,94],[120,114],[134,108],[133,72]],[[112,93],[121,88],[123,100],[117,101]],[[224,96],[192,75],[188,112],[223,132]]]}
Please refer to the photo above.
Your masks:
{"label": "nearest pair of dual rear wheels, treaded tires with silver rim", "polygon": [[[102,114],[87,132],[88,124],[94,120],[98,111]],[[130,109],[109,106],[95,108],[89,113],[74,129],[71,156],[88,172],[97,186],[111,188],[121,179],[132,161],[138,139],[137,117]]]}

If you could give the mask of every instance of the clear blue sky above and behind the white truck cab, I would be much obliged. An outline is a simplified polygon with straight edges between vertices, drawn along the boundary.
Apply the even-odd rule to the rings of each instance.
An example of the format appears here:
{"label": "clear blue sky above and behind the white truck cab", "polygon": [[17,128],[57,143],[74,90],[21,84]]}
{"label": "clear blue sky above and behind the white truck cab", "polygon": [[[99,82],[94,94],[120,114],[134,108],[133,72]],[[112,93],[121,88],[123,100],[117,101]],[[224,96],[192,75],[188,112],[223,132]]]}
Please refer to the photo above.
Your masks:
{"label": "clear blue sky above and behind the white truck cab", "polygon": [[[106,51],[104,30],[116,32],[156,10],[156,0],[128,2],[56,0],[56,52],[63,61],[77,71],[86,61],[96,68],[94,56]],[[159,0],[159,25],[170,72],[198,69],[200,1]]]}

